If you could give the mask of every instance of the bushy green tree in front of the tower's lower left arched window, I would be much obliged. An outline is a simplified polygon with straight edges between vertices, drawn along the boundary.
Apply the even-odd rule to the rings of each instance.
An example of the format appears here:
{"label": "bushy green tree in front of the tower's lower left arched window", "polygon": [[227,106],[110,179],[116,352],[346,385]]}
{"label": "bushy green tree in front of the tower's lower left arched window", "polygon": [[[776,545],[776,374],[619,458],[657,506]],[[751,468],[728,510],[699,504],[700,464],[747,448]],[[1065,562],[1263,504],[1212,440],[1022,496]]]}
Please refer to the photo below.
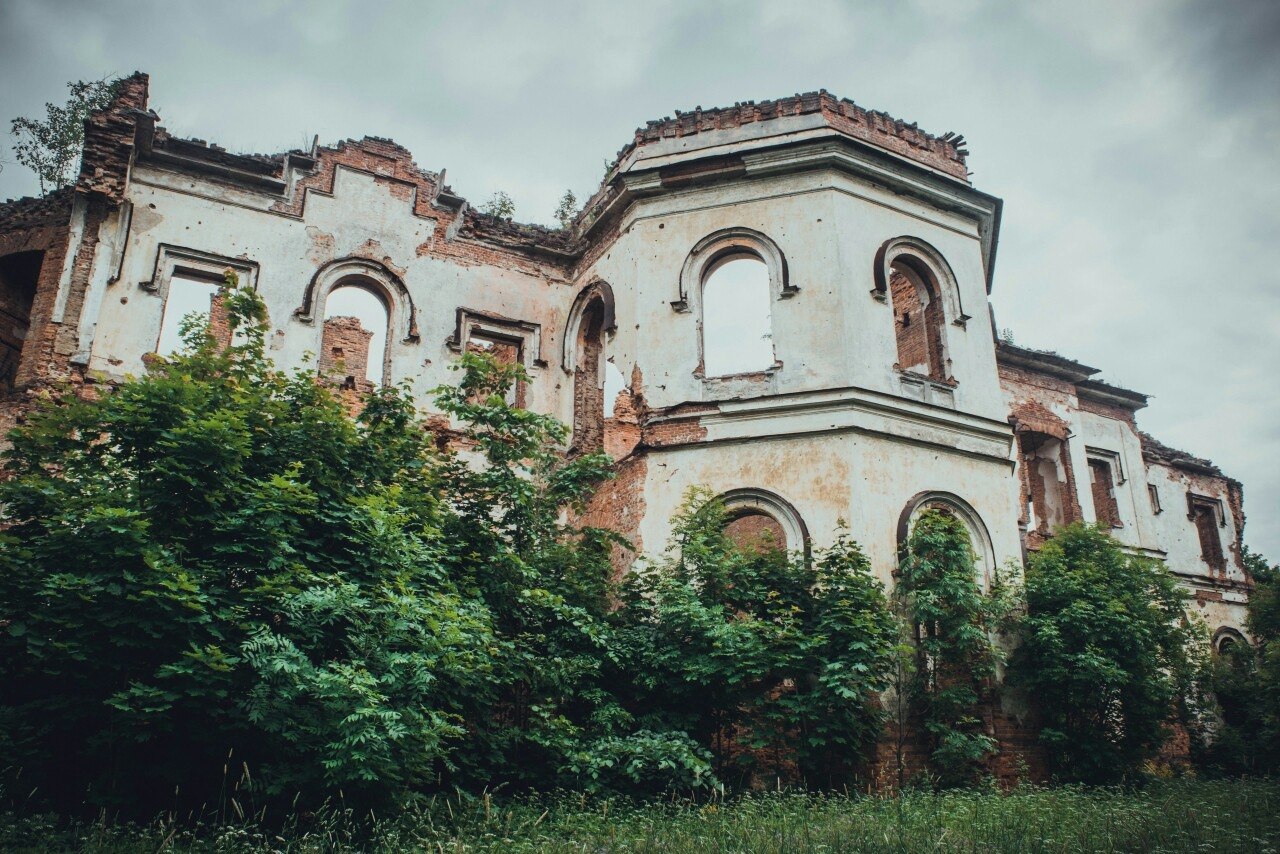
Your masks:
{"label": "bushy green tree in front of the tower's lower left arched window", "polygon": [[794,767],[847,782],[881,734],[897,627],[846,536],[813,560],[739,548],[724,507],[692,490],[666,560],[634,576],[628,666],[637,718],[690,734],[731,777]]}

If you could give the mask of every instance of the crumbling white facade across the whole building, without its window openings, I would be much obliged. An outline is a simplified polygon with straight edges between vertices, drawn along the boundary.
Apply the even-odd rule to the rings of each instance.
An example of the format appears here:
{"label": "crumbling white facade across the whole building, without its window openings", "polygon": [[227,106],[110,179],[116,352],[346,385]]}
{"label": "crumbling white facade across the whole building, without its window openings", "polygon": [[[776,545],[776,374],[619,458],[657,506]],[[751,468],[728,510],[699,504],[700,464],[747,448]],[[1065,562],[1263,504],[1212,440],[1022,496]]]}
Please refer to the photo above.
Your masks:
{"label": "crumbling white facade across the whole building, without its window openings", "polygon": [[[573,424],[575,305],[584,289],[607,283],[614,323],[604,357],[639,380],[632,391],[644,407],[640,444],[621,463],[643,457],[632,495],[643,515],[628,533],[649,554],[662,551],[669,519],[699,485],[776,495],[813,545],[847,529],[886,584],[911,502],[954,499],[980,540],[984,571],[1018,567],[1033,519],[1020,490],[1018,430],[1027,423],[1018,411],[1033,401],[1062,425],[1080,517],[1098,516],[1091,453],[1114,455],[1123,472],[1114,484],[1116,539],[1167,561],[1197,592],[1196,609],[1211,629],[1243,631],[1249,580],[1239,558],[1238,484],[1204,466],[1144,456],[1132,423],[1140,394],[1100,391],[1092,369],[997,346],[987,294],[1000,201],[954,169],[904,155],[904,140],[923,138],[911,128],[877,131],[879,146],[874,134],[861,138],[809,111],[640,141],[570,233],[554,236],[477,216],[443,175],[419,170],[385,141],[264,165],[205,154],[154,122],[131,120],[123,191],[96,234],[72,229],[73,248],[96,239],[78,315],[50,319],[77,324],[72,365],[92,380],[145,370],[169,288],[180,286],[175,274],[214,277],[230,266],[265,300],[269,353],[282,367],[315,365],[325,297],[355,282],[388,303],[384,382],[408,382],[425,415],[434,414],[430,389],[454,380],[449,366],[475,329],[518,341],[531,376],[525,405]],[[927,142],[955,149],[946,138]],[[714,255],[721,243],[769,268],[776,362],[768,370],[704,375],[699,247]],[[896,366],[895,310],[877,277],[878,264],[888,275],[895,252],[936,277],[945,379]],[[76,287],[68,261],[56,306]],[[1009,360],[1020,366],[1018,379],[1004,374]],[[1158,512],[1148,485],[1160,494]],[[1222,571],[1201,558],[1188,492],[1222,507]]]}

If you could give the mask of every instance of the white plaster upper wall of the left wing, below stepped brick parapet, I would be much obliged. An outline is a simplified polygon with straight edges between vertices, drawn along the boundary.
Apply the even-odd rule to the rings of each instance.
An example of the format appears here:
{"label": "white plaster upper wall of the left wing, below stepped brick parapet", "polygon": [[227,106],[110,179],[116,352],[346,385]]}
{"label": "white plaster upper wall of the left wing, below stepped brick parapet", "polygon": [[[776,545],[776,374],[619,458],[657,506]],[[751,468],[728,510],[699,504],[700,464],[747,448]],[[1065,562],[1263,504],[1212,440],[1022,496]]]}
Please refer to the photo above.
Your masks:
{"label": "white plaster upper wall of the left wing, below stepped brick parapet", "polygon": [[224,193],[210,182],[146,168],[136,170],[129,197],[134,205],[129,247],[120,280],[101,303],[93,370],[138,374],[142,356],[155,348],[163,300],[138,283],[151,279],[161,243],[256,261],[259,293],[270,314],[269,352],[287,369],[307,364],[306,355],[320,348],[323,318],[308,324],[294,315],[312,275],[328,261],[361,255],[402,271],[413,297],[420,341],[408,342],[403,329],[392,330],[389,379],[411,380],[420,405],[429,405],[429,389],[457,379],[448,370],[456,353],[445,339],[453,334],[456,309],[466,306],[541,324],[540,357],[548,367],[531,369],[529,405],[539,411],[559,408],[559,329],[572,289],[532,262],[513,269],[420,256],[419,247],[433,238],[436,222],[415,215],[411,200],[397,197],[366,173],[339,166],[333,195],[308,193],[302,219],[268,213],[260,201],[250,205],[253,200],[244,191]]}

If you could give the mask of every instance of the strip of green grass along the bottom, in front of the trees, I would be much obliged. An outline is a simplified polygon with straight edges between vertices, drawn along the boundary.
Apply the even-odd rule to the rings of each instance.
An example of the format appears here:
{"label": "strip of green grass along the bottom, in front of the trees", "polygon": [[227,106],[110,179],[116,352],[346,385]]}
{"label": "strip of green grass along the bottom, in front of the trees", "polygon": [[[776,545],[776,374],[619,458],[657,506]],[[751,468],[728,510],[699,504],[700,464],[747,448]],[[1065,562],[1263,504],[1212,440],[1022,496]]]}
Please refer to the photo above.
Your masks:
{"label": "strip of green grass along the bottom, in front of the trees", "polygon": [[436,799],[394,818],[333,810],[262,830],[68,826],[0,816],[4,851],[1280,851],[1280,782],[1155,781],[901,799],[768,794],[710,803],[577,795]]}

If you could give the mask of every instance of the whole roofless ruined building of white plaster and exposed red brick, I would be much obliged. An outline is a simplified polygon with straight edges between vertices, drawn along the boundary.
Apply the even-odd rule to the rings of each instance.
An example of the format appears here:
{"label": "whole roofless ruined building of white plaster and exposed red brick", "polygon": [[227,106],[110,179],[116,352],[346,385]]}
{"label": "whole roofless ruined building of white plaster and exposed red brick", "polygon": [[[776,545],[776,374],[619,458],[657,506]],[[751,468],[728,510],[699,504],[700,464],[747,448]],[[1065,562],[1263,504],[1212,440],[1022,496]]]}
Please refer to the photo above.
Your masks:
{"label": "whole roofless ruined building of white plaster and exposed red brick", "polygon": [[[614,456],[591,520],[641,551],[695,484],[744,538],[804,549],[844,521],[886,584],[927,506],[984,574],[1098,520],[1167,562],[1216,643],[1243,638],[1240,484],[1142,433],[1143,394],[996,339],[1001,202],[961,137],[827,92],[677,113],[553,230],[477,213],[388,140],[236,155],[157,119],[128,78],[76,184],[0,206],[0,426],[50,380],[142,373],[191,307],[216,324],[230,268],[275,362],[315,353],[353,394],[408,380],[431,415],[466,350],[524,364],[512,402]],[[334,307],[353,289],[379,321]]]}

